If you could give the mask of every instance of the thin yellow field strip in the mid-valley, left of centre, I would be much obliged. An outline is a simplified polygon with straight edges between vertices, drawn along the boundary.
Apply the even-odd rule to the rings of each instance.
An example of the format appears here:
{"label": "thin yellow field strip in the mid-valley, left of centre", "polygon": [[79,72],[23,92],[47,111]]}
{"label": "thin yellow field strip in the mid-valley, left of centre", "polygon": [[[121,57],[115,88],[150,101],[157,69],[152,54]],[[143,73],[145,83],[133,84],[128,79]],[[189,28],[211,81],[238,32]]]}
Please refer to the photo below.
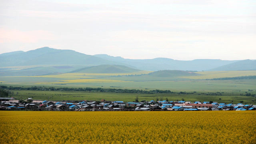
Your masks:
{"label": "thin yellow field strip in the mid-valley, left of centre", "polygon": [[37,84],[68,84],[68,83],[88,83],[88,82],[128,82],[128,81],[101,80],[101,79],[76,79],[76,80],[60,80],[60,82],[42,82]]}

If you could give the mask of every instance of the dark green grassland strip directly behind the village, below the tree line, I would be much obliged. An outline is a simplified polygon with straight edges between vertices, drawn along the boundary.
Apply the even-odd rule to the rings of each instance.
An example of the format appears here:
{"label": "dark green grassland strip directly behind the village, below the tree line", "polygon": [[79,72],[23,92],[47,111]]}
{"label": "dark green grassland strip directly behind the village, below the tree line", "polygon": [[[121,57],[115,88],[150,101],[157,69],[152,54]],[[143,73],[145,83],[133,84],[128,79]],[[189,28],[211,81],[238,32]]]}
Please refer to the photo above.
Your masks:
{"label": "dark green grassland strip directly behind the village, below the tree line", "polygon": [[[109,100],[116,101],[122,100],[125,102],[134,101],[136,96],[138,96],[139,101],[141,100],[182,100],[182,98],[186,101],[216,101],[216,102],[225,102],[225,103],[240,103],[240,101],[244,101],[246,104],[255,104],[256,101],[252,101],[255,98],[252,96],[241,96],[240,94],[245,94],[244,91],[237,91],[235,93],[230,92],[222,92],[219,91],[222,95],[216,95],[211,92],[196,92],[194,94],[166,94],[166,93],[158,93],[158,94],[140,94],[140,93],[118,93],[118,92],[81,92],[81,91],[32,91],[32,90],[11,90],[14,92],[12,97],[20,100],[33,98],[34,100],[52,100],[52,101],[81,101],[81,100]],[[18,92],[18,94],[16,93]],[[247,91],[249,92],[249,91]],[[256,94],[255,91],[250,91],[252,94]],[[212,95],[211,95],[212,94]],[[221,98],[221,100],[220,100]]]}

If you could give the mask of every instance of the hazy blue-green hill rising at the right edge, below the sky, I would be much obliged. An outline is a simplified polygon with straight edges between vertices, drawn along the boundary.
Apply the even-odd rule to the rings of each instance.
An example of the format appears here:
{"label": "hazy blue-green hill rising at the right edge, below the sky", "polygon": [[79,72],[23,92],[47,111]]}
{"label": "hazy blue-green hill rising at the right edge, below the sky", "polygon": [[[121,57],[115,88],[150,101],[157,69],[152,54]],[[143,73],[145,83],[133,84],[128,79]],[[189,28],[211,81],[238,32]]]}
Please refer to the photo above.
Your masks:
{"label": "hazy blue-green hill rising at the right edge, below the sky", "polygon": [[210,69],[209,71],[224,70],[256,70],[256,60],[241,60],[232,64],[227,64],[218,68]]}

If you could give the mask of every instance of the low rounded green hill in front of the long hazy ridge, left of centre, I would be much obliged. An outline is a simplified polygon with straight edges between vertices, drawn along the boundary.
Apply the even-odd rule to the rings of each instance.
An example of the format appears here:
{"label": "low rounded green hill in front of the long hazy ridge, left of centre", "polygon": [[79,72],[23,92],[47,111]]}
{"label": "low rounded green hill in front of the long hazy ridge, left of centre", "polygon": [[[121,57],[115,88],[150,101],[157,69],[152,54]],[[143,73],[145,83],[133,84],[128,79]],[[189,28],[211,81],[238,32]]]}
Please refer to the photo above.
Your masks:
{"label": "low rounded green hill in front of the long hazy ridge, left of centre", "polygon": [[80,68],[72,72],[78,73],[129,73],[129,72],[138,72],[140,70],[129,68],[127,66],[121,65],[100,65],[100,66],[90,66],[86,68]]}

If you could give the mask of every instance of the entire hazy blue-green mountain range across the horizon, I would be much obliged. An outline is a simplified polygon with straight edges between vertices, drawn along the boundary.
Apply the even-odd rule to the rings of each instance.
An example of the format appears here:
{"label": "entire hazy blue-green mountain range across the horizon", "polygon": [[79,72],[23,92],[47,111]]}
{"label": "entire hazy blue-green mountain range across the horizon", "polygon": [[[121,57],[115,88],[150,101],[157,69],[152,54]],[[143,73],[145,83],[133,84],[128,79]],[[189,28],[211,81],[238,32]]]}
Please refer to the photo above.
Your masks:
{"label": "entire hazy blue-green mountain range across the horizon", "polygon": [[[256,70],[256,60],[173,60],[170,58],[135,60],[125,59],[120,56],[109,56],[107,54],[96,54],[92,56],[74,50],[58,50],[49,47],[38,48],[27,52],[16,51],[0,54],[0,73],[5,72],[6,74],[9,73],[9,75],[11,73],[10,70],[14,70],[14,67],[20,66],[28,66],[30,69],[26,69],[27,72],[31,70],[43,70],[45,72],[41,72],[40,74],[48,74],[54,72],[77,72],[81,70],[94,72],[92,66],[100,65],[102,65],[102,68],[96,69],[102,69],[102,72],[105,73],[132,72],[135,70]],[[106,65],[123,67],[117,68],[116,66],[112,66],[112,68],[106,68]],[[130,68],[130,70],[124,68],[124,66]],[[22,70],[25,71],[25,69]]]}

